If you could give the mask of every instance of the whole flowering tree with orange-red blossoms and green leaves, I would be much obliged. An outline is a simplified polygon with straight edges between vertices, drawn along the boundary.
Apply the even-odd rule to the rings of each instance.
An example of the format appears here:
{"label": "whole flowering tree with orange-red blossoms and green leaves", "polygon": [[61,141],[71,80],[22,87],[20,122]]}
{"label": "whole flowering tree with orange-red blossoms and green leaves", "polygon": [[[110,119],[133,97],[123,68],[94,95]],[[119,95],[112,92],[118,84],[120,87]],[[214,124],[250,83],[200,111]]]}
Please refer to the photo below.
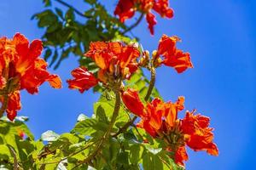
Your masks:
{"label": "whole flowering tree with orange-red blossoms and green leaves", "polygon": [[[193,68],[190,54],[176,47],[180,38],[163,35],[150,54],[138,39],[126,35],[145,16],[154,34],[154,13],[172,18],[167,0],[119,0],[114,14],[96,0],[85,0],[89,9],[81,13],[70,4],[66,14],[60,8],[47,7],[33,18],[44,27],[44,59],[55,68],[73,53],[80,57],[79,68],[67,80],[70,89],[86,93],[94,88],[100,99],[91,117],[79,115],[70,133],[52,131],[34,140],[20,111],[20,90],[38,93],[49,82],[61,88],[61,79],[47,71],[40,58],[43,43],[31,43],[20,33],[11,39],[0,38],[0,164],[8,169],[183,169],[189,156],[188,146],[218,156],[213,143],[210,118],[184,110],[184,97],[165,102],[154,87],[156,70],[172,67],[177,73]],[[140,13],[131,26],[125,20]],[[83,18],[81,23],[75,16]],[[143,68],[151,74],[150,80]],[[6,113],[7,117],[4,116]],[[178,118],[180,115],[183,118]],[[183,115],[183,116],[182,116]]]}

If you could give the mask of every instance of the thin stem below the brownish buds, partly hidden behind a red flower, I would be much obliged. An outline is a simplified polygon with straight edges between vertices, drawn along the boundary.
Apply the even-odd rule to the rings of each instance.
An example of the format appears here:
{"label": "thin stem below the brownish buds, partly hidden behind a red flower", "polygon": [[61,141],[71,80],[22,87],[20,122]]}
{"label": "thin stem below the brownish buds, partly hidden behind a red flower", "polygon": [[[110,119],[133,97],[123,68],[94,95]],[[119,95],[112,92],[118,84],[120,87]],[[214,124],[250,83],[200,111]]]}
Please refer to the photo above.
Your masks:
{"label": "thin stem below the brownish buds, partly hidden behind a red flower", "polygon": [[[153,91],[153,89],[154,89],[155,76],[156,76],[156,75],[155,75],[155,69],[154,69],[154,67],[151,67],[151,68],[150,68],[150,72],[151,72],[151,79],[150,79],[150,82],[149,82],[149,85],[148,85],[148,92],[147,92],[147,94],[146,94],[146,96],[145,96],[145,98],[144,98],[145,101],[148,101],[148,99],[149,99],[149,97],[150,97],[150,95],[152,94],[152,91]],[[126,122],[125,125],[124,125],[124,127],[119,128],[119,132],[113,134],[113,137],[116,138],[120,133],[124,133],[125,130],[126,130],[128,127],[130,127],[130,126],[136,121],[136,119],[137,119],[137,116],[134,116],[134,117],[131,119],[131,121]]]}

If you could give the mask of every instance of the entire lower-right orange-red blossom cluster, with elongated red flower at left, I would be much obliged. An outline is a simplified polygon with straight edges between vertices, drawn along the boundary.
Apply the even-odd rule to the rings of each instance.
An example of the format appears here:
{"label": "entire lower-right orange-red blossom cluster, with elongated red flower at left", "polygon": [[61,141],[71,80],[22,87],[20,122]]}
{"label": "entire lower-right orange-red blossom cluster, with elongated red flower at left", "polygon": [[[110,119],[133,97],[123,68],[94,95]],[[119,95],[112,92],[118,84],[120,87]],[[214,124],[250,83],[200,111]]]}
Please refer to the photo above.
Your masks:
{"label": "entire lower-right orange-red blossom cluster, with elongated red flower at left", "polygon": [[218,156],[217,145],[212,142],[212,127],[207,116],[195,115],[187,111],[183,119],[177,118],[177,113],[184,109],[184,98],[179,97],[175,103],[163,102],[156,98],[151,103],[143,105],[137,91],[128,88],[122,93],[126,107],[135,115],[141,117],[137,127],[145,129],[153,138],[164,139],[166,150],[174,153],[173,159],[180,166],[188,160],[185,146],[192,150],[206,150],[212,156]]}

